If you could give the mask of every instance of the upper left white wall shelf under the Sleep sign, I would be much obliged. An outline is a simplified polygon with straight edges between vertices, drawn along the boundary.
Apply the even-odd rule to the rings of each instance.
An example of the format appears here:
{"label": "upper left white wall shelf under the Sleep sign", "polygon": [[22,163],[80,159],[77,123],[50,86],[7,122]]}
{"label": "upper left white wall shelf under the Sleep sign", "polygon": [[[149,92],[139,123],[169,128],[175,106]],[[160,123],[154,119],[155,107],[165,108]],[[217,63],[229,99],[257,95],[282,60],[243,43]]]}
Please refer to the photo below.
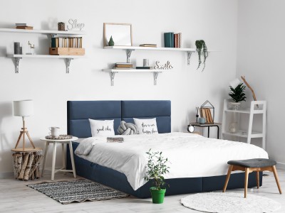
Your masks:
{"label": "upper left white wall shelf under the Sleep sign", "polygon": [[6,33],[42,33],[42,34],[61,34],[61,35],[85,35],[84,31],[48,31],[48,30],[22,30],[14,28],[0,28],[0,32]]}

